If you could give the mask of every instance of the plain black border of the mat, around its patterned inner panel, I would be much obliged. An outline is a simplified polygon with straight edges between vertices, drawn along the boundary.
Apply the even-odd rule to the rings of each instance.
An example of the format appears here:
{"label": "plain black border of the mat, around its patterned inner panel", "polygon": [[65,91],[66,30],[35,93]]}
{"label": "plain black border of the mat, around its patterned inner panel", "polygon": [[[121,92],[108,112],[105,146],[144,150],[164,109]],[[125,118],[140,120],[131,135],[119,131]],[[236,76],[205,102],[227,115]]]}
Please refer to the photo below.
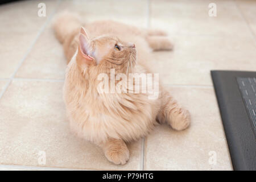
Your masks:
{"label": "plain black border of the mat, around its patterned inner panel", "polygon": [[210,71],[210,73],[233,169],[256,170],[255,136],[236,80],[237,77],[256,77],[256,72]]}

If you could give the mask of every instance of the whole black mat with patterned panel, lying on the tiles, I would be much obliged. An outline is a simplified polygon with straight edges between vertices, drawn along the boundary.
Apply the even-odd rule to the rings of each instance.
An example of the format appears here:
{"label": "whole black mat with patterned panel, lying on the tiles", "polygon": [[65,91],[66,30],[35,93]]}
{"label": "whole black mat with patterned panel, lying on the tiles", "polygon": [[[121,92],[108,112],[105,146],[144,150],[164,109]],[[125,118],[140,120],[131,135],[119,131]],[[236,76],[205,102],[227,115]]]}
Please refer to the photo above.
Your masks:
{"label": "whole black mat with patterned panel, lying on the tiles", "polygon": [[256,72],[211,71],[234,170],[256,170]]}

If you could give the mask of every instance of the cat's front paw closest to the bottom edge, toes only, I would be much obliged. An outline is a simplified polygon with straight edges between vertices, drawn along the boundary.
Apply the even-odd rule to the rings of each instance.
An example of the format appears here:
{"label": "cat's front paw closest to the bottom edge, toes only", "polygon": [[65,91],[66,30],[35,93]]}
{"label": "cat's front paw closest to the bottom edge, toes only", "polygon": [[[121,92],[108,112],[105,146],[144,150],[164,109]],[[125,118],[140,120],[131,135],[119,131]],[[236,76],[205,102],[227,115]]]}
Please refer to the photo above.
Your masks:
{"label": "cat's front paw closest to the bottom edge, toes only", "polygon": [[109,148],[109,150],[105,151],[105,156],[114,164],[125,164],[130,158],[129,150],[126,146]]}

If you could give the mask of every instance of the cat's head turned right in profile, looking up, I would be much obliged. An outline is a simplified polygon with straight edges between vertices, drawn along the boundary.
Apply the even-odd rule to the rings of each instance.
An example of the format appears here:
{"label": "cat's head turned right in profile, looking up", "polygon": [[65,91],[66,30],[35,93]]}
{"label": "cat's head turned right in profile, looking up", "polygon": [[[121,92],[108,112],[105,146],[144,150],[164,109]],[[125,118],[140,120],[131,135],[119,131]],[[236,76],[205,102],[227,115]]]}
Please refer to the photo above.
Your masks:
{"label": "cat's head turned right in profile, looking up", "polygon": [[100,69],[101,72],[114,68],[119,73],[127,74],[135,60],[136,49],[133,43],[123,42],[111,35],[90,39],[81,27],[76,63],[82,72],[90,68]]}

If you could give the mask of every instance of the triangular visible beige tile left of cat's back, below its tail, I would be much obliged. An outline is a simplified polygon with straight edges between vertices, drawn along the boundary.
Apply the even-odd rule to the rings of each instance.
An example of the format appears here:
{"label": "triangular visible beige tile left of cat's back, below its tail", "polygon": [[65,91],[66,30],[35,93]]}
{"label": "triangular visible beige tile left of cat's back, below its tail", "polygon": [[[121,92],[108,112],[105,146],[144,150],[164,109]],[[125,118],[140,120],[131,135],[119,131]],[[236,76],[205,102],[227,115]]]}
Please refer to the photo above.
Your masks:
{"label": "triangular visible beige tile left of cat's back, below its tail", "polygon": [[64,79],[66,66],[63,47],[49,24],[15,77]]}

